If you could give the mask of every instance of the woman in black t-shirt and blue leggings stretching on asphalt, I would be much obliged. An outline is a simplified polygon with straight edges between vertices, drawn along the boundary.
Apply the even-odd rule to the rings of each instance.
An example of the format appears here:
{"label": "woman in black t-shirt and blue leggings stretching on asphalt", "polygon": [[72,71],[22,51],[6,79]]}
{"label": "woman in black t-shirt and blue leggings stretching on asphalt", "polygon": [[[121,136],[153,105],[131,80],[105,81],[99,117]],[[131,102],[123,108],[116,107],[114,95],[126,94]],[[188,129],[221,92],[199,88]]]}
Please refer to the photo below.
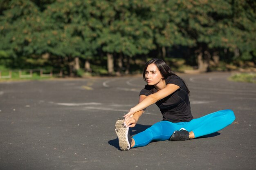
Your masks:
{"label": "woman in black t-shirt and blue leggings stretching on asphalt", "polygon": [[[193,119],[189,102],[189,89],[160,59],[145,64],[143,78],[147,82],[139,94],[139,104],[117,120],[115,130],[121,150],[146,146],[150,141],[183,141],[217,132],[235,120],[232,110],[220,110]],[[156,104],[163,120],[130,137],[129,127],[137,124],[139,117],[151,104]]]}

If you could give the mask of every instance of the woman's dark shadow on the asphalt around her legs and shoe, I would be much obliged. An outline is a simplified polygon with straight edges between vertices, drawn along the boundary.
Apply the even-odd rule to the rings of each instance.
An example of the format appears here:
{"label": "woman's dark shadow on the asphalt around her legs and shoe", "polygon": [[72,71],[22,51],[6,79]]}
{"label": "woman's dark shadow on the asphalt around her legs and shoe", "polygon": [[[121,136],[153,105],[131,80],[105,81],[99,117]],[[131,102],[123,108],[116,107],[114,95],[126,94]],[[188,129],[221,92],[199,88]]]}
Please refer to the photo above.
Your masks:
{"label": "woman's dark shadow on the asphalt around her legs and shoe", "polygon": [[[129,129],[130,130],[130,135],[131,136],[136,135],[136,134],[138,134],[140,132],[143,132],[144,130],[146,130],[147,128],[150,128],[150,127],[151,127],[151,125],[136,124],[136,126],[134,128]],[[218,136],[218,135],[220,135],[219,132],[214,132],[214,133],[211,133],[209,135],[204,135],[204,136],[198,137],[196,139],[215,137],[215,136]],[[115,148],[119,149],[118,138],[108,141],[108,144],[110,144],[110,145],[114,146]]]}

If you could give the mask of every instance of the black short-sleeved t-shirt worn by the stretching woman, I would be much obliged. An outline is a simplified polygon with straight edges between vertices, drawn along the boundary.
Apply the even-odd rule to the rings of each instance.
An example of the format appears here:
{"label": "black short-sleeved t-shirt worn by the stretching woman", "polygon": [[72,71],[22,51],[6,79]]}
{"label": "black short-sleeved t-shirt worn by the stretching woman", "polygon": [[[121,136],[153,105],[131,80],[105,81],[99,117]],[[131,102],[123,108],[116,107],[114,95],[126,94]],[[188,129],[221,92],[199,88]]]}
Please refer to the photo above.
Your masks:
{"label": "black short-sleeved t-shirt worn by the stretching woman", "polygon": [[[166,85],[175,84],[180,86],[180,88],[171,95],[168,95],[164,99],[156,102],[156,105],[159,107],[163,115],[163,120],[174,123],[191,121],[193,116],[191,114],[189,95],[186,91],[185,84],[177,75],[167,77],[165,83]],[[145,88],[141,90],[139,95],[148,96],[156,92],[157,89],[154,86],[146,85]]]}

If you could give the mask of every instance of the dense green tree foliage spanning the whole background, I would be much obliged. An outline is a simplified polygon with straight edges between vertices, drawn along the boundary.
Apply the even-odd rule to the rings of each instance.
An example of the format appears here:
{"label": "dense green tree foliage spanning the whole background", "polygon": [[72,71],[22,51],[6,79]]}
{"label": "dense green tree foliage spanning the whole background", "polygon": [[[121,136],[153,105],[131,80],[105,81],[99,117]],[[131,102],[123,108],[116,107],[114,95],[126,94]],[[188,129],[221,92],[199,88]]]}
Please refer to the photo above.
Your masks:
{"label": "dense green tree foliage spanning the whole background", "polygon": [[147,56],[175,67],[170,52],[182,47],[188,52],[180,67],[196,62],[198,53],[207,62],[218,55],[223,62],[255,63],[255,9],[254,0],[2,0],[0,62],[76,74],[79,57],[92,62],[92,71],[105,73],[107,53],[115,62],[122,58],[128,69],[130,59]]}

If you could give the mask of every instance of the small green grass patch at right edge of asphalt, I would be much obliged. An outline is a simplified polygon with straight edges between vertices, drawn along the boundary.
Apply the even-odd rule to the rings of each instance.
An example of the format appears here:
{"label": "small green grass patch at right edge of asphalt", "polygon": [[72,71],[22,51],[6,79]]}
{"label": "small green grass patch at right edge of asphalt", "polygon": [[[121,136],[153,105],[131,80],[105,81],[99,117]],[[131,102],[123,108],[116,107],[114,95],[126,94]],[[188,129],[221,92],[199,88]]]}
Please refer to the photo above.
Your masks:
{"label": "small green grass patch at right edge of asphalt", "polygon": [[236,73],[229,77],[229,80],[235,82],[256,83],[256,73]]}

